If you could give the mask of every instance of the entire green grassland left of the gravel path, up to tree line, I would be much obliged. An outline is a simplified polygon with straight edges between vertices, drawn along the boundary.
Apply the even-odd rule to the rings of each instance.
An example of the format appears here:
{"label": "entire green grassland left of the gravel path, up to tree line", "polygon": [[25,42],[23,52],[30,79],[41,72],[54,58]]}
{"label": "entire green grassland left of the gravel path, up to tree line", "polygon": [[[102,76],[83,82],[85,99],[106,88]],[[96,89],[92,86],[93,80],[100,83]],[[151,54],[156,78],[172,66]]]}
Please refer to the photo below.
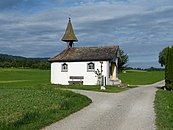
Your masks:
{"label": "entire green grassland left of the gravel path, up to tree line", "polygon": [[39,129],[89,103],[80,94],[53,89],[47,70],[0,69],[0,129]]}

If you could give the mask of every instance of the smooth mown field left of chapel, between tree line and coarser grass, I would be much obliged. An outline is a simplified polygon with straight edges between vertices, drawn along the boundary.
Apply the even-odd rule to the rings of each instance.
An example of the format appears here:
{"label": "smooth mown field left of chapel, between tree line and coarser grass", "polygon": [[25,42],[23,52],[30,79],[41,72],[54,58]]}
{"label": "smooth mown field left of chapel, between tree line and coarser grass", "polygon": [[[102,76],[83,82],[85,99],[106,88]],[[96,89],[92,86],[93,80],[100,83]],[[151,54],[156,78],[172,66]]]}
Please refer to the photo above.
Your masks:
{"label": "smooth mown field left of chapel, between tree line and coarser grass", "polygon": [[49,88],[50,71],[0,68],[0,88]]}

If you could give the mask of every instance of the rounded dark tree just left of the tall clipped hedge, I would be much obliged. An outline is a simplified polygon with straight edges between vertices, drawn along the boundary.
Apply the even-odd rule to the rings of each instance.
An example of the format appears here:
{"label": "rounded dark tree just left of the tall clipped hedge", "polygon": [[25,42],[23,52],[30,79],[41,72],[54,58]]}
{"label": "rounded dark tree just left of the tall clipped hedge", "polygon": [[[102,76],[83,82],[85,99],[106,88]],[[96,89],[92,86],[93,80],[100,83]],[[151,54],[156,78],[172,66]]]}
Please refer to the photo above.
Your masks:
{"label": "rounded dark tree just left of the tall clipped hedge", "polygon": [[168,51],[168,47],[164,48],[160,53],[159,53],[159,63],[161,64],[161,66],[165,66],[166,63],[166,54]]}

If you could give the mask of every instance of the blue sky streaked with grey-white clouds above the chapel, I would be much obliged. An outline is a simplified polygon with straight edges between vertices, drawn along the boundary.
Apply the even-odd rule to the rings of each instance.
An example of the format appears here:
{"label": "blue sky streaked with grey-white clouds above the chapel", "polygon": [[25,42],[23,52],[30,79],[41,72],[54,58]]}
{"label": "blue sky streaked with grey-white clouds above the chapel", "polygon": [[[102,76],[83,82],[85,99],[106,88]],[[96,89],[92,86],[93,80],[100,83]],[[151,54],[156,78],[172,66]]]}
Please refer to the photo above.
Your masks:
{"label": "blue sky streaked with grey-white clouds above the chapel", "polygon": [[131,67],[160,67],[173,44],[173,0],[1,0],[0,53],[53,57],[71,18],[81,46],[119,45]]}

